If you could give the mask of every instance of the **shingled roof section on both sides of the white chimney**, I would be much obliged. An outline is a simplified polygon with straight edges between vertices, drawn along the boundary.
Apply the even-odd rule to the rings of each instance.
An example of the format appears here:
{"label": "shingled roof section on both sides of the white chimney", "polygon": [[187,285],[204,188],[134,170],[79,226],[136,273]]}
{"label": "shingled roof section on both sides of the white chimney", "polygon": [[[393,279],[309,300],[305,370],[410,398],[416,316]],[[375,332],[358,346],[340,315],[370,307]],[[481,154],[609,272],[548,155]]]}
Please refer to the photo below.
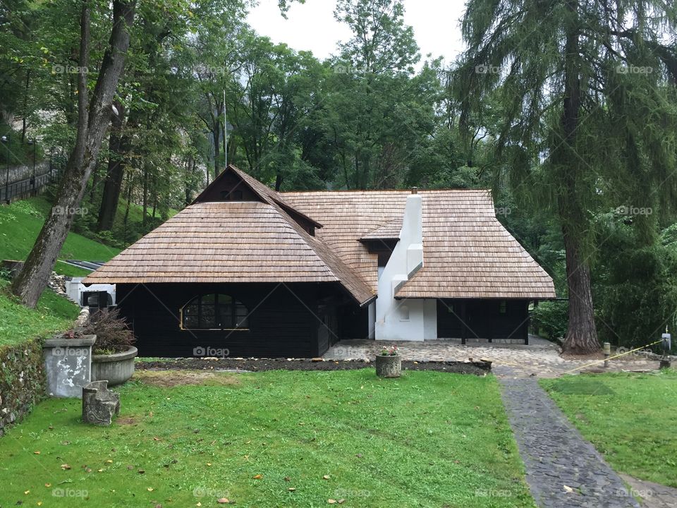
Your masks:
{"label": "shingled roof section on both sides of the white chimney", "polygon": [[[423,267],[403,298],[554,298],[551,277],[496,219],[484,190],[418,191],[422,196]],[[377,255],[360,242],[394,234],[408,191],[283,193],[322,221],[317,237],[377,290]],[[387,232],[387,233],[386,233]]]}

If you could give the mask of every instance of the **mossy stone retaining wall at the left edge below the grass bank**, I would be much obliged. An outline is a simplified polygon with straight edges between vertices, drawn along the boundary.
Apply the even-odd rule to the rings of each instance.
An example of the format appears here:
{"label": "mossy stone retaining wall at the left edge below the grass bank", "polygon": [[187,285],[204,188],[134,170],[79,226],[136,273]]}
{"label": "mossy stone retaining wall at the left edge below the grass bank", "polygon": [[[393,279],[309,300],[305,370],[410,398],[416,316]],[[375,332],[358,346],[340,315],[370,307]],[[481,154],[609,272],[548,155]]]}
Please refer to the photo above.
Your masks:
{"label": "mossy stone retaining wall at the left edge below the grass bank", "polygon": [[0,436],[45,397],[42,340],[0,346]]}

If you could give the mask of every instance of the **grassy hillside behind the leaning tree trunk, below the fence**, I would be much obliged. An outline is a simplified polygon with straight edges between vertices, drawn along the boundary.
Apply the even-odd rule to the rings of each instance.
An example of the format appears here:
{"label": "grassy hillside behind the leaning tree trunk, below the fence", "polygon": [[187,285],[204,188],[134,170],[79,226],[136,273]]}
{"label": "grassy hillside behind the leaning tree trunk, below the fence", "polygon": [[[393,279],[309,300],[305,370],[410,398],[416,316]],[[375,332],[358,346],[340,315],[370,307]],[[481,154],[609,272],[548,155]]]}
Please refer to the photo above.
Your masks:
{"label": "grassy hillside behind the leaning tree trunk, below the fence", "polygon": [[[42,229],[49,212],[49,202],[42,197],[13,202],[0,206],[0,259],[23,260],[28,256],[35,238]],[[63,244],[59,259],[107,261],[119,252],[118,249],[70,233]],[[54,271],[64,275],[84,276],[90,272],[57,261]]]}

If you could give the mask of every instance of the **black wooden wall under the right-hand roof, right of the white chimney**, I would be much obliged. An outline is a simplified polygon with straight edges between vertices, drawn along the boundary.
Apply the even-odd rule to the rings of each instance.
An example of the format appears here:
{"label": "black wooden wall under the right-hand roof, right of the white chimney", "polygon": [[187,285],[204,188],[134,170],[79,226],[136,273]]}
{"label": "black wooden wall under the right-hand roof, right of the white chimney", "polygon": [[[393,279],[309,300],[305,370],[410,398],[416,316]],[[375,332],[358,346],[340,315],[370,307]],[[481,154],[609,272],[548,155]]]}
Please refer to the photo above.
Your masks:
{"label": "black wooden wall under the right-hand roof, right of the white chimney", "polygon": [[527,341],[529,301],[439,299],[437,337],[441,339],[521,339]]}

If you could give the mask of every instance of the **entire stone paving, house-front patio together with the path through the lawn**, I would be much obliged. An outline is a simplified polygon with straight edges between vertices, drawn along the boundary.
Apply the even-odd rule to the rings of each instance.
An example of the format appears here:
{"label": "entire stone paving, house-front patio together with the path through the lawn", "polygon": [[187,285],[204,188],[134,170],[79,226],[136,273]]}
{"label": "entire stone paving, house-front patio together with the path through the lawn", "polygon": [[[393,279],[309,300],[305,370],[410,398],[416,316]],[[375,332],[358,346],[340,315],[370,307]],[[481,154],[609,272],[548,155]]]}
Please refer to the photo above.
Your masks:
{"label": "entire stone paving, house-front patio together with the path through the lawn", "polygon": [[[634,480],[630,490],[602,456],[580,435],[554,401],[539,387],[535,377],[559,377],[578,373],[590,360],[560,356],[559,347],[539,337],[530,344],[466,344],[452,341],[373,340],[340,341],[324,354],[334,360],[370,358],[382,347],[396,345],[405,360],[493,362],[492,371],[503,387],[502,397],[527,471],[532,495],[541,508],[638,508],[633,494],[647,492],[644,482]],[[602,364],[592,368],[602,368]],[[657,361],[628,358],[611,361],[608,370],[656,370]],[[566,485],[566,487],[565,487]],[[652,484],[653,485],[653,484]],[[641,488],[640,488],[641,487]],[[644,508],[677,508],[677,490],[654,485],[645,496]]]}

